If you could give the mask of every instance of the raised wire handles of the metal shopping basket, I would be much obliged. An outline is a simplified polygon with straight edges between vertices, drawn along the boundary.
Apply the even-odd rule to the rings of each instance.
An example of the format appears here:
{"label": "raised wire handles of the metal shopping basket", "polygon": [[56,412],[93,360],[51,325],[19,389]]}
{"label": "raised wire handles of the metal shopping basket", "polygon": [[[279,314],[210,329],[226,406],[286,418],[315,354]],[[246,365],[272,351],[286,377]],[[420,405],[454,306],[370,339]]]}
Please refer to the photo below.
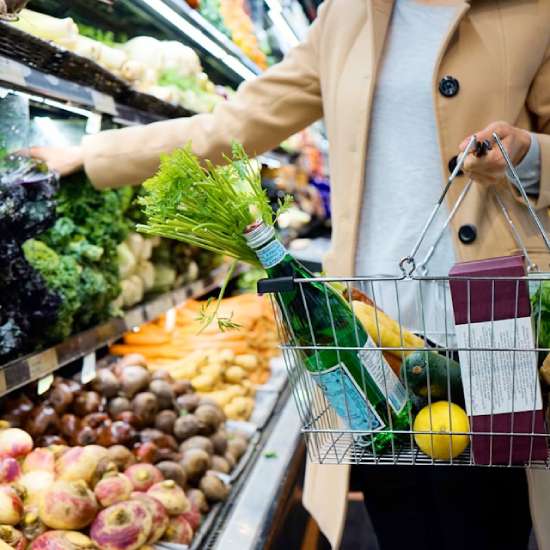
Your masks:
{"label": "raised wire handles of the metal shopping basket", "polygon": [[[548,235],[546,234],[544,226],[543,226],[542,222],[540,221],[540,218],[538,217],[535,209],[533,208],[533,205],[531,204],[531,202],[529,200],[529,197],[527,196],[527,193],[525,192],[525,189],[523,188],[523,185],[521,183],[521,179],[518,176],[518,173],[516,171],[514,163],[512,162],[512,159],[510,158],[510,155],[508,154],[508,151],[504,147],[504,144],[502,143],[502,140],[500,139],[500,137],[498,136],[498,134],[496,132],[493,132],[493,140],[497,144],[498,148],[500,149],[500,152],[502,153],[502,156],[504,158],[506,166],[507,166],[508,170],[510,171],[510,174],[512,175],[513,181],[510,182],[510,185],[515,187],[518,190],[518,192],[520,193],[522,199],[524,200],[524,202],[527,206],[529,214],[530,214],[531,218],[533,219],[533,222],[535,223],[535,225],[536,225],[536,227],[537,227],[537,229],[538,229],[538,231],[539,231],[539,233],[542,237],[542,240],[544,241],[544,244],[545,244],[546,248],[548,249],[548,251],[550,251],[550,239],[548,238]],[[459,159],[456,163],[456,167],[453,170],[452,174],[449,176],[449,179],[447,180],[447,184],[445,185],[445,188],[443,189],[443,192],[441,193],[441,196],[439,197],[437,203],[434,205],[434,207],[433,207],[433,209],[432,209],[432,211],[431,211],[431,213],[428,217],[428,220],[426,221],[426,224],[422,228],[422,231],[420,233],[420,236],[418,237],[418,240],[416,241],[413,249],[411,250],[411,253],[408,256],[405,256],[405,258],[401,259],[401,261],[399,262],[399,268],[401,269],[401,272],[403,273],[404,277],[410,278],[413,275],[413,273],[415,272],[416,262],[415,262],[414,257],[418,253],[418,250],[419,250],[420,246],[424,242],[424,238],[426,237],[428,229],[431,227],[437,212],[441,208],[441,205],[443,204],[443,201],[444,201],[445,197],[447,196],[447,192],[449,191],[449,188],[451,187],[453,181],[457,177],[458,172],[464,166],[464,162],[466,161],[466,157],[468,156],[468,154],[470,153],[472,148],[474,146],[476,146],[476,144],[477,144],[477,139],[476,139],[476,136],[474,135],[470,138],[470,141],[468,142],[468,145],[464,149],[464,152],[462,153],[462,155],[460,155],[460,157],[459,157]],[[447,217],[447,219],[446,219],[446,221],[443,225],[442,230],[440,231],[440,233],[438,234],[437,238],[434,241],[434,244],[430,247],[430,249],[428,250],[428,253],[426,254],[426,257],[424,258],[424,260],[420,264],[420,268],[422,269],[423,272],[426,271],[426,264],[428,263],[429,259],[432,257],[436,246],[438,245],[439,241],[443,237],[445,229],[447,228],[450,221],[454,217],[454,215],[455,215],[456,211],[458,210],[459,206],[464,201],[464,198],[466,197],[466,194],[470,190],[471,184],[472,184],[472,180],[470,179],[468,181],[468,183],[466,184],[466,187],[464,188],[464,190],[462,191],[462,193],[458,197],[457,202],[455,203],[453,209],[451,210],[449,216]],[[526,253],[526,248],[525,248],[525,245],[523,244],[523,241],[521,240],[521,237],[519,237],[519,240],[517,239],[517,237],[519,236],[519,233],[517,232],[513,222],[511,222],[511,218],[509,217],[509,215],[507,215],[506,209],[503,208],[502,200],[500,200],[500,197],[498,197],[498,196],[497,196],[497,200],[498,200],[499,204],[501,205],[501,209],[503,211],[503,214],[504,214],[505,218],[507,219],[508,223],[510,224],[510,227],[512,228],[512,233],[514,234],[514,238],[516,239],[516,242],[518,242],[518,244],[520,245],[520,248],[522,248],[524,253]],[[536,269],[536,265],[531,262],[531,260],[529,259],[528,254],[526,254],[526,259],[529,263],[530,269],[531,270]]]}

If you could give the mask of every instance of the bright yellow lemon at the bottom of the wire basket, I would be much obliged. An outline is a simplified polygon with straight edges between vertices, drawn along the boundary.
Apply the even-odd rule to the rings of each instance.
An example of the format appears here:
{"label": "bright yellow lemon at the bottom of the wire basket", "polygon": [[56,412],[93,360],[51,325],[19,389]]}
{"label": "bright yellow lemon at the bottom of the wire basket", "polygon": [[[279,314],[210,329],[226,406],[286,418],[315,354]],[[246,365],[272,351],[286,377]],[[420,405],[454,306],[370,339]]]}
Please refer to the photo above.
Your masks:
{"label": "bright yellow lemon at the bottom of the wire basket", "polygon": [[438,401],[424,407],[414,419],[413,429],[416,444],[428,456],[437,460],[449,460],[464,452],[470,438],[454,435],[469,432],[468,415],[458,405],[449,401]]}

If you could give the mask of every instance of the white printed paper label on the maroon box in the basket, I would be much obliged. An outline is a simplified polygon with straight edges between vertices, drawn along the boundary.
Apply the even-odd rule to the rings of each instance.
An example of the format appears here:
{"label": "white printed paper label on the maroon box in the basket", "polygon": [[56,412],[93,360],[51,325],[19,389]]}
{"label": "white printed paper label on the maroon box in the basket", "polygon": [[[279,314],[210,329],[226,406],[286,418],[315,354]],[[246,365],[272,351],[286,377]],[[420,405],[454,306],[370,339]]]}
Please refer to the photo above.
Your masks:
{"label": "white printed paper label on the maroon box in the basket", "polygon": [[456,337],[469,416],[542,409],[530,317],[457,325]]}

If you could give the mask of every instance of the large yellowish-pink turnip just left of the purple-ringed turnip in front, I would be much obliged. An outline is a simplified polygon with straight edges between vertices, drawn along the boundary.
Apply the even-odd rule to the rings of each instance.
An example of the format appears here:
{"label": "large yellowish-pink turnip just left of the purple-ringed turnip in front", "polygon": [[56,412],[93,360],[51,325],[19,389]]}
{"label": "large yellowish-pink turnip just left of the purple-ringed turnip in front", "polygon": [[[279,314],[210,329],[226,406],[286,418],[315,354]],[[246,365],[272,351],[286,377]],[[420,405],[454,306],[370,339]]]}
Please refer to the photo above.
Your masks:
{"label": "large yellowish-pink turnip just left of the purple-ringed turnip in front", "polygon": [[52,529],[83,529],[97,510],[96,498],[83,481],[56,481],[40,498],[40,519]]}

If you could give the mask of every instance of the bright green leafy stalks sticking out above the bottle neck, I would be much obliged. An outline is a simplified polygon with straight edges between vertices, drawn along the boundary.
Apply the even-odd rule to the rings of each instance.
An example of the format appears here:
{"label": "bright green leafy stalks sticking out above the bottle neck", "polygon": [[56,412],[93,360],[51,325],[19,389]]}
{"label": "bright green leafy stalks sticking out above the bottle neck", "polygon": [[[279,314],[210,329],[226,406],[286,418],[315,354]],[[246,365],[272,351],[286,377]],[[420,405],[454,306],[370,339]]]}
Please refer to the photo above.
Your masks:
{"label": "bright green leafy stalks sticking out above the bottle neck", "polygon": [[147,223],[137,229],[259,267],[243,233],[256,219],[273,225],[273,212],[242,146],[235,144],[227,160],[226,166],[202,166],[190,147],[163,157],[157,175],[144,184],[146,194],[139,200]]}

